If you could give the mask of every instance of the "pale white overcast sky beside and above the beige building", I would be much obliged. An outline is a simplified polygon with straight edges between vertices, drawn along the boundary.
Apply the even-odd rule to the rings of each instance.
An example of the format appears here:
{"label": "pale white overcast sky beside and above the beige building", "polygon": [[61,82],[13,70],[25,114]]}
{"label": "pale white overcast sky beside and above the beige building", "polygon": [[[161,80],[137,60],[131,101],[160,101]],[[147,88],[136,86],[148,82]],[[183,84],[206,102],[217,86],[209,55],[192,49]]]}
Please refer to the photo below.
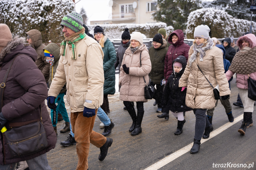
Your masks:
{"label": "pale white overcast sky beside and above the beige building", "polygon": [[[134,1],[138,2],[137,0]],[[112,8],[109,7],[109,0],[75,0],[75,2],[76,12],[80,13],[81,8],[84,7],[89,21],[87,21],[88,25],[90,21],[109,20],[109,14],[112,13]]]}

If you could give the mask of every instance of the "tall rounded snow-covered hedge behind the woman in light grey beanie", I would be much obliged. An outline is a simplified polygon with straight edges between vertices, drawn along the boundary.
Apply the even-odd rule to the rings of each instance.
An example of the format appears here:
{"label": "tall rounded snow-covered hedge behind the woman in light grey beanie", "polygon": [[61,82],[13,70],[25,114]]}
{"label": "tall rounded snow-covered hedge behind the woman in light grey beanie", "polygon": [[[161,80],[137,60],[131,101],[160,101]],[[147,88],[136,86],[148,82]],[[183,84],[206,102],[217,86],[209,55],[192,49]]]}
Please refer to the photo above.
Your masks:
{"label": "tall rounded snow-covered hedge behind the woman in light grey beanie", "polygon": [[[195,27],[208,25],[211,37],[240,37],[250,30],[250,21],[236,19],[227,12],[213,8],[202,8],[190,12],[187,18],[187,38],[194,37]],[[256,33],[256,23],[252,22],[252,33]]]}

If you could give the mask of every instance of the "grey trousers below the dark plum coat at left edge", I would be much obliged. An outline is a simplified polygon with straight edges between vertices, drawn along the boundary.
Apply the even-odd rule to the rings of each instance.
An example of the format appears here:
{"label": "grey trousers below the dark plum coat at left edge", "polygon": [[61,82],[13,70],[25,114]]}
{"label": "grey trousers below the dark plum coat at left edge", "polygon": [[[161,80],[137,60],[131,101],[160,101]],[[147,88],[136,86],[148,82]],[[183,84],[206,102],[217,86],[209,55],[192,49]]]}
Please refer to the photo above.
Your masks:
{"label": "grey trousers below the dark plum coat at left edge", "polygon": [[[52,170],[52,168],[48,164],[48,160],[46,157],[46,153],[43,155],[37,156],[35,158],[26,160],[28,163],[28,168],[30,170]],[[8,164],[8,165],[0,165],[1,170],[14,170],[16,169],[16,163]]]}

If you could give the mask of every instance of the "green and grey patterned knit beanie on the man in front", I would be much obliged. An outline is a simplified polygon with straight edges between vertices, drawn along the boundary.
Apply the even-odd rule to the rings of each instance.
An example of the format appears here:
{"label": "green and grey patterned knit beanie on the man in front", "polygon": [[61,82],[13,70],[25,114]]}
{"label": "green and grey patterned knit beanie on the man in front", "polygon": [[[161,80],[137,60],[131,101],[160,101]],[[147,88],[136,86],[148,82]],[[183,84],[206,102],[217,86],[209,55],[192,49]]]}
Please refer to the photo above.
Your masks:
{"label": "green and grey patterned knit beanie on the man in front", "polygon": [[83,18],[79,13],[71,12],[62,18],[61,26],[66,26],[77,33],[83,28]]}

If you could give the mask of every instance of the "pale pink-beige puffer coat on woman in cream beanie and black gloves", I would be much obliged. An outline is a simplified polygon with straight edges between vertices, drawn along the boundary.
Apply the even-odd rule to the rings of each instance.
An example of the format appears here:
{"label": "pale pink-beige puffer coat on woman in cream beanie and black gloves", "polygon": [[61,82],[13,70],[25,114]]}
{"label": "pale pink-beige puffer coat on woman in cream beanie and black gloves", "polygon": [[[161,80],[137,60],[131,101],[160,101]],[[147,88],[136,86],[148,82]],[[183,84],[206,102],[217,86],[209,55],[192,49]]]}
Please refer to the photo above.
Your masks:
{"label": "pale pink-beige puffer coat on woman in cream beanie and black gloves", "polygon": [[[141,66],[140,66],[141,54]],[[123,71],[123,64],[129,67],[129,74]],[[122,66],[120,68],[119,85],[120,100],[123,101],[144,101],[147,99],[144,96],[145,82],[149,83],[148,74],[151,71],[151,61],[148,50],[145,44],[142,44],[133,54],[130,48],[127,48],[123,56]]]}

